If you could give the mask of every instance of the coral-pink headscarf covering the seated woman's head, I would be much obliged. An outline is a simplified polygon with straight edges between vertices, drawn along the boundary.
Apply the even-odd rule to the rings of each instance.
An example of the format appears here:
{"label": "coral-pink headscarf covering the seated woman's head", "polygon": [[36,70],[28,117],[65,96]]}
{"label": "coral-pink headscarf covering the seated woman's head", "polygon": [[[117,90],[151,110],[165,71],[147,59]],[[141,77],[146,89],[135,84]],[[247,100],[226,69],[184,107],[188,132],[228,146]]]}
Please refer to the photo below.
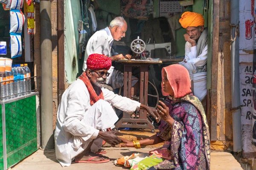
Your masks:
{"label": "coral-pink headscarf covering the seated woman's head", "polygon": [[[181,98],[191,93],[191,80],[189,77],[189,71],[187,71],[185,67],[179,64],[173,64],[164,67],[162,69],[162,79],[164,71],[166,71],[167,79],[172,86],[175,98]],[[168,96],[169,94],[163,91],[162,83],[161,85],[163,96]]]}

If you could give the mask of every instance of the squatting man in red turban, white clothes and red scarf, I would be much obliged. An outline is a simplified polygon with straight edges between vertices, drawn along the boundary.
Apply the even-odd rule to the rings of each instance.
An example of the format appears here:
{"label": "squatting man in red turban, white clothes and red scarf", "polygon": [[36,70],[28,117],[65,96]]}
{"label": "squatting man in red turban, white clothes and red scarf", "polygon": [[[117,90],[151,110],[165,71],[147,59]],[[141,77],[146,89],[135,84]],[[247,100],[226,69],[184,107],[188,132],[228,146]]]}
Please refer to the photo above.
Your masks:
{"label": "squatting man in red turban, white clothes and red scarf", "polygon": [[111,67],[109,57],[91,54],[86,64],[87,69],[67,88],[58,107],[55,152],[63,167],[70,166],[73,159],[82,163],[109,161],[97,151],[102,147],[103,139],[112,146],[122,142],[115,135],[117,131],[107,130],[118,120],[112,106],[127,113],[145,109],[159,119],[155,109],[102,88]]}

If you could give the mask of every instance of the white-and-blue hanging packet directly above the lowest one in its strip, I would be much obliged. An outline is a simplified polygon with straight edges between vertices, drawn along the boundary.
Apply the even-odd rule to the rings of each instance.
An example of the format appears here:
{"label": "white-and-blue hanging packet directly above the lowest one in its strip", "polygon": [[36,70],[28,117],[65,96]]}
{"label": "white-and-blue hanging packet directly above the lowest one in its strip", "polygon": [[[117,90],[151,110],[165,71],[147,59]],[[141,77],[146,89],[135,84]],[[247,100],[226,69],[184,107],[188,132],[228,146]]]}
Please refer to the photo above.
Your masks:
{"label": "white-and-blue hanging packet directly above the lowest one in its strip", "polygon": [[21,33],[25,16],[19,10],[10,11],[10,33]]}

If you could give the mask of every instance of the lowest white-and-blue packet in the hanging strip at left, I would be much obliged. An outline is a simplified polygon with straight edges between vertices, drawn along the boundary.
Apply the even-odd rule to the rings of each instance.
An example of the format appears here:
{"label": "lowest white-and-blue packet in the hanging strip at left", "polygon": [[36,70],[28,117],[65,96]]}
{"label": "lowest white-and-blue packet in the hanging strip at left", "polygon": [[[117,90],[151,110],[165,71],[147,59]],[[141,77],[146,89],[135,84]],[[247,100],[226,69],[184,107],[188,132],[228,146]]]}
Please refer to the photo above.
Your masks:
{"label": "lowest white-and-blue packet in the hanging strip at left", "polygon": [[21,34],[10,33],[11,57],[20,57],[22,54]]}

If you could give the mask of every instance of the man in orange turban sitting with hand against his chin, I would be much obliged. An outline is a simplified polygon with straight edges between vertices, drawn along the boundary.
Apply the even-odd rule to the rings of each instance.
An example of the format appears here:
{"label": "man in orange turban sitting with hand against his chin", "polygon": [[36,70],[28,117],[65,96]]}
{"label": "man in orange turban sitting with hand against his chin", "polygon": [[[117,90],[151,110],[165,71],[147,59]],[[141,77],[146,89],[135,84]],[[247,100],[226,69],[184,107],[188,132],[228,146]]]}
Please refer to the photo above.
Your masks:
{"label": "man in orange turban sitting with hand against his chin", "polygon": [[186,29],[185,58],[180,65],[189,71],[192,91],[202,101],[207,94],[208,31],[204,28],[204,17],[187,11],[181,15],[179,21]]}

